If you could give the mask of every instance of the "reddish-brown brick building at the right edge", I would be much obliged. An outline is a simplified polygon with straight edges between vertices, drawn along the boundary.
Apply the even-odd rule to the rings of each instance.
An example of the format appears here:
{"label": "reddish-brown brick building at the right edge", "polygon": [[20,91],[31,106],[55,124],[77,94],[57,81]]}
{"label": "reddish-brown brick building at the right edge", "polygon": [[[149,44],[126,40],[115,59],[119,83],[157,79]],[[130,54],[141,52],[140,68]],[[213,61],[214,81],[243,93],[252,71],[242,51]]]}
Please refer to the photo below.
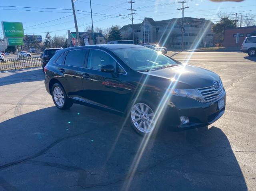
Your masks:
{"label": "reddish-brown brick building at the right edge", "polygon": [[256,26],[228,28],[224,30],[224,47],[237,47],[236,33],[239,33],[238,47],[241,47],[245,37],[256,35]]}

